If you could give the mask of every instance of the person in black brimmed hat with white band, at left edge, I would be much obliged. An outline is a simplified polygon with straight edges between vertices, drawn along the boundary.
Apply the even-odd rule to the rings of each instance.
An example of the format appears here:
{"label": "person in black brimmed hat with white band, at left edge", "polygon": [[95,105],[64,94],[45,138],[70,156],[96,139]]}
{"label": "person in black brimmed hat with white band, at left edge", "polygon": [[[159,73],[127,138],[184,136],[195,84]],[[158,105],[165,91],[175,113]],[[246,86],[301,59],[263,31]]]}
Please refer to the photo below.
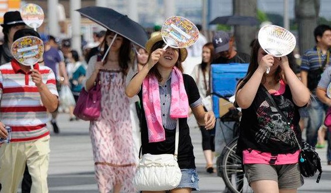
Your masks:
{"label": "person in black brimmed hat with white band, at left edge", "polygon": [[13,38],[15,32],[26,28],[26,24],[18,11],[6,12],[4,15],[4,24],[1,24],[4,33],[4,44],[0,45],[0,65],[10,62],[13,57],[11,53]]}

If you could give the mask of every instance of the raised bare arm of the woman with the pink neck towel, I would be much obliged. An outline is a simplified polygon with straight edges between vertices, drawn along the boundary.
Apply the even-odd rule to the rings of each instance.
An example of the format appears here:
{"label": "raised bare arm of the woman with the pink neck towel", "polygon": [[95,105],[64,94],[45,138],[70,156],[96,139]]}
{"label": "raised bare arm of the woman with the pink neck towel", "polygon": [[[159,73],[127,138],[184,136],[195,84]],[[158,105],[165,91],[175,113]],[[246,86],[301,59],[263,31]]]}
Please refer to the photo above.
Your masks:
{"label": "raised bare arm of the woman with the pink neck towel", "polygon": [[125,89],[125,94],[129,98],[135,96],[139,90],[145,77],[147,76],[148,72],[152,69],[152,67],[159,61],[161,56],[165,51],[163,49],[157,49],[151,54],[151,58],[147,62],[147,64],[138,72],[138,74],[132,78],[129,82],[128,86]]}

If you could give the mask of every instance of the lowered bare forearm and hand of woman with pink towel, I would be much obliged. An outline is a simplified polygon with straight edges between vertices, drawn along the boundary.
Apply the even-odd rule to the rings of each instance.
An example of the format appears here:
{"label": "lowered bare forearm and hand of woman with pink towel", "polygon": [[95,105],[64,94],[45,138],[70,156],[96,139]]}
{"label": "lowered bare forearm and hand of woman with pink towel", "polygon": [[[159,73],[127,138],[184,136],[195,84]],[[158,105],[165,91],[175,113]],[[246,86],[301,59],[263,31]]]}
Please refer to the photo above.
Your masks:
{"label": "lowered bare forearm and hand of woman with pink towel", "polygon": [[212,129],[215,126],[216,118],[212,111],[205,112],[202,105],[192,108],[194,117],[200,125],[205,125],[206,129]]}

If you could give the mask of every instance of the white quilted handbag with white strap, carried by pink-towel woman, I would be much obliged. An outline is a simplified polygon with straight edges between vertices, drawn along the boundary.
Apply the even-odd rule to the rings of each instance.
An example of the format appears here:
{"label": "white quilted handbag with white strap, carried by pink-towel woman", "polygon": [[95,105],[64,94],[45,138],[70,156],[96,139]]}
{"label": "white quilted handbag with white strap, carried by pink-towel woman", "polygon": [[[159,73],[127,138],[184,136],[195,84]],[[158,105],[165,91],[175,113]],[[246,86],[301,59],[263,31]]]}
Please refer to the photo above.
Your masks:
{"label": "white quilted handbag with white strap, carried by pink-towel woman", "polygon": [[140,159],[133,184],[139,191],[161,191],[177,187],[182,173],[177,163],[179,123],[176,124],[175,154],[152,155]]}

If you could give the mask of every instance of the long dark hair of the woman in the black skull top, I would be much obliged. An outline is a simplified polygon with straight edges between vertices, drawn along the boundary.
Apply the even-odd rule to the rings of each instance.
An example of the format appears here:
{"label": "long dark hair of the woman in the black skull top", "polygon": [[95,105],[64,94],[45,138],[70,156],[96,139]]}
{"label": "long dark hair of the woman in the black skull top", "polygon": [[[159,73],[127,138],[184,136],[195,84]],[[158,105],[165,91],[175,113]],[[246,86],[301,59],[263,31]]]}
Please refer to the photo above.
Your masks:
{"label": "long dark hair of the woman in the black skull top", "polygon": [[[247,74],[246,76],[238,82],[237,85],[237,91],[241,89],[247,82],[248,80],[253,76],[254,72],[258,68],[258,61],[257,61],[257,55],[258,55],[258,50],[261,48],[260,44],[258,43],[258,40],[255,40],[252,46],[251,54],[250,54],[250,63],[248,66]],[[275,80],[279,81],[281,79],[281,68],[278,66],[276,70],[276,76]],[[262,79],[263,81],[263,79]]]}

